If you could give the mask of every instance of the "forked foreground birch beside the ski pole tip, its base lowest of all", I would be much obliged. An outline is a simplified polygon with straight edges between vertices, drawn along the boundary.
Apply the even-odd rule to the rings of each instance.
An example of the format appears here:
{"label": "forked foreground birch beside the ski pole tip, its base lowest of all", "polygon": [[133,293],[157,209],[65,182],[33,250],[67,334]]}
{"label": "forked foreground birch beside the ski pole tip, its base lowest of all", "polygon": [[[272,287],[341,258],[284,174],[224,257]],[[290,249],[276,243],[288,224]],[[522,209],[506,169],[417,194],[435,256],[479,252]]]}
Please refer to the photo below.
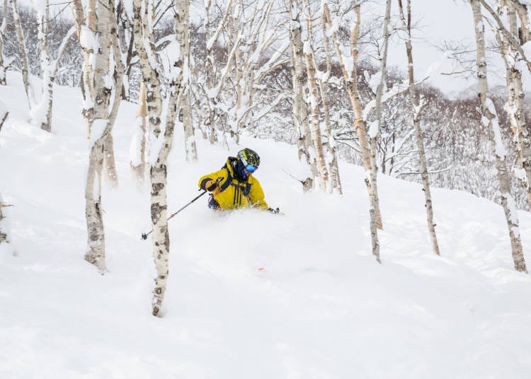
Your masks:
{"label": "forked foreground birch beside the ski pole tip, its base lowest of all", "polygon": [[[188,62],[181,49],[185,43],[182,39],[189,33],[183,28],[189,28],[188,4],[178,0],[173,4],[175,30],[160,54],[165,59],[160,62],[154,53],[154,29],[152,19],[154,8],[151,1],[135,0],[133,3],[135,25],[135,47],[142,67],[142,81],[146,87],[147,117],[149,120],[149,163],[151,164],[149,177],[151,182],[151,218],[152,218],[152,248],[156,267],[155,287],[152,300],[152,314],[159,315],[164,300],[166,284],[169,274],[170,239],[168,222],[166,220],[166,161],[171,151],[173,132],[176,126],[178,106],[181,104],[183,93],[187,90]],[[166,121],[164,132],[161,129],[161,84],[159,77],[168,81],[168,98],[166,105]]]}

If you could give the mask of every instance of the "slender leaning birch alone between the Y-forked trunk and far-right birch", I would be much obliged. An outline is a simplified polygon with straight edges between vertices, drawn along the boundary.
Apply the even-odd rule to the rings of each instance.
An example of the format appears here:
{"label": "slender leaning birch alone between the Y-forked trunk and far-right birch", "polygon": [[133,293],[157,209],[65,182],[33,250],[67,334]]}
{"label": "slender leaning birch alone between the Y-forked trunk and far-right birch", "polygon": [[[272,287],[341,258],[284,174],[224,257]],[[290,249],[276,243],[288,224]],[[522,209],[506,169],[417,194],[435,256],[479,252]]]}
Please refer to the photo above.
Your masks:
{"label": "slender leaning birch alone between the Y-forked trunk and far-right birch", "polygon": [[[430,240],[433,252],[440,255],[439,243],[437,241],[437,234],[435,233],[435,222],[433,221],[433,203],[431,199],[430,180],[428,178],[428,164],[426,163],[426,152],[424,149],[424,139],[421,129],[421,110],[424,102],[416,100],[415,94],[415,80],[413,73],[413,45],[411,43],[411,0],[407,0],[406,13],[404,14],[404,7],[402,0],[398,0],[400,21],[402,28],[405,31],[404,44],[406,46],[406,55],[408,57],[408,76],[409,76],[409,101],[411,102],[411,114],[413,115],[413,127],[415,129],[416,142],[418,147],[418,161],[421,169],[422,186],[425,199],[426,220],[428,222],[428,232],[430,233]],[[407,18],[406,18],[407,17]],[[407,20],[407,21],[406,21]]]}

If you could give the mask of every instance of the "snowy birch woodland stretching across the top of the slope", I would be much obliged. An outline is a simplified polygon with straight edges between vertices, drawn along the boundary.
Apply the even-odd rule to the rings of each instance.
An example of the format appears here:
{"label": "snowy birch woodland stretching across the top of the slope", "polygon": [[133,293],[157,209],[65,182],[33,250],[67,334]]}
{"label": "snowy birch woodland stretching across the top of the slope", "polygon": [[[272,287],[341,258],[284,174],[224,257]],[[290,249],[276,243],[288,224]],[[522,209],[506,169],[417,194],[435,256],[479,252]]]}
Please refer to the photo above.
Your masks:
{"label": "snowy birch woodland stretching across the top of the slope", "polygon": [[[464,1],[464,0],[463,0]],[[79,87],[91,144],[85,259],[105,272],[103,177],[118,185],[113,124],[122,101],[138,105],[130,166],[149,182],[159,313],[168,276],[166,160],[176,127],[188,161],[195,139],[227,147],[242,134],[297,146],[304,191],[343,194],[338,159],[365,169],[372,253],[380,262],[378,175],[422,184],[428,233],[440,255],[430,185],[464,189],[504,209],[515,269],[527,272],[517,209],[530,209],[531,136],[522,74],[531,69],[526,1],[467,0],[476,46],[452,49],[473,93],[449,98],[414,71],[411,0],[4,0],[0,84],[20,71],[33,123],[51,132],[54,83]],[[55,9],[55,8],[54,8]],[[378,8],[379,9],[379,8]],[[69,12],[69,16],[64,12]],[[198,21],[199,20],[199,21]],[[407,66],[388,62],[404,43]],[[506,86],[488,83],[487,53]],[[41,86],[33,86],[35,80]],[[4,117],[5,119],[5,117]],[[0,214],[1,219],[1,214]],[[4,238],[5,239],[5,238]]]}

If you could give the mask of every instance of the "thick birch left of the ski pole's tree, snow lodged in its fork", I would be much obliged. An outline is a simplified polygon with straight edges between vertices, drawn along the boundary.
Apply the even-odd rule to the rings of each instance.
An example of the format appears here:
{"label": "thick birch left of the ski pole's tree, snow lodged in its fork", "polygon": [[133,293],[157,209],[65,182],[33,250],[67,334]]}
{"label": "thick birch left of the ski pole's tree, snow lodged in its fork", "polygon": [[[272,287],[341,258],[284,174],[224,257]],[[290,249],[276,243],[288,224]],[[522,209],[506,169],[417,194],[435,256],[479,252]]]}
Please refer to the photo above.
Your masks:
{"label": "thick birch left of the ski pole's tree, snow lodged in its fork", "polygon": [[85,260],[98,267],[103,274],[106,270],[101,205],[104,151],[105,141],[112,132],[120,106],[123,64],[118,52],[115,4],[110,0],[89,0],[86,9],[79,1],[74,1],[71,5],[76,32],[84,54],[81,81],[82,113],[89,140],[89,168],[85,188]]}

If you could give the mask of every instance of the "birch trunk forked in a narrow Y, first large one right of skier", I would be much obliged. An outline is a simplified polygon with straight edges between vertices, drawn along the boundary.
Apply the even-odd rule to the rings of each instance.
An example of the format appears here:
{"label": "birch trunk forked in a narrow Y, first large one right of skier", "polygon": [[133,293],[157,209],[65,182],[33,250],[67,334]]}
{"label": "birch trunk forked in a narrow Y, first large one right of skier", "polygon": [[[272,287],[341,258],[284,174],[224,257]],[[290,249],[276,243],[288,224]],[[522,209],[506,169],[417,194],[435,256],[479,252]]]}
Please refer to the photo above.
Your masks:
{"label": "birch trunk forked in a narrow Y, first large one right of skier", "polygon": [[[372,254],[375,255],[377,262],[380,262],[377,228],[378,204],[376,202],[377,196],[373,194],[376,189],[373,185],[371,175],[372,163],[370,153],[370,141],[367,136],[367,124],[365,124],[365,118],[363,116],[363,107],[361,104],[360,93],[358,90],[358,40],[360,37],[361,12],[360,3],[358,3],[357,1],[353,1],[352,4],[354,18],[353,25],[350,28],[350,57],[347,57],[343,54],[343,51],[339,45],[338,35],[336,30],[333,30],[331,13],[329,11],[329,6],[326,1],[323,2],[323,10],[326,16],[326,23],[328,24],[329,31],[331,32],[333,45],[336,49],[336,54],[338,56],[338,61],[341,66],[341,71],[343,72],[345,89],[348,93],[350,104],[352,105],[356,118],[353,127],[356,134],[358,134],[362,163],[363,167],[365,168],[365,185],[367,185],[367,192],[369,193],[370,200],[369,214]],[[346,59],[350,62],[350,64],[348,65],[348,69],[345,62]]]}

